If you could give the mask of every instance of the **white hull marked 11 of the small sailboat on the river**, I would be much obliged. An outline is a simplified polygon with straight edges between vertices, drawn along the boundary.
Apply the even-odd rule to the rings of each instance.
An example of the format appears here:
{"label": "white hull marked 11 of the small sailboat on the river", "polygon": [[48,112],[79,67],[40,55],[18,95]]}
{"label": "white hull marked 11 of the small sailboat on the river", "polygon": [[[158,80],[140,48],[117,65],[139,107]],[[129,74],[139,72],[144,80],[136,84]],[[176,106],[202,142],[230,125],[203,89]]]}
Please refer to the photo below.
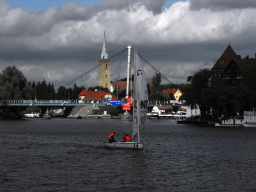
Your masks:
{"label": "white hull marked 11 of the small sailboat on the river", "polygon": [[139,142],[103,142],[103,144],[108,148],[122,148],[131,150],[142,150],[143,143]]}

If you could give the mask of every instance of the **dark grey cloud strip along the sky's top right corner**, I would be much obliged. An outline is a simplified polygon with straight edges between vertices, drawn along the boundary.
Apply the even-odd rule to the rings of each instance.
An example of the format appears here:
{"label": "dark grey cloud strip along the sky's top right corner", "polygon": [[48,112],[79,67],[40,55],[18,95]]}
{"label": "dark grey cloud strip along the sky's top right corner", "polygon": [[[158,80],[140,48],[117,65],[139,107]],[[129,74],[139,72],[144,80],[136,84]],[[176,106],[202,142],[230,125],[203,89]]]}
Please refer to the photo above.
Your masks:
{"label": "dark grey cloud strip along the sky's top right corner", "polygon": [[253,0],[190,0],[192,10],[211,9],[221,11],[225,9],[256,8],[256,1]]}

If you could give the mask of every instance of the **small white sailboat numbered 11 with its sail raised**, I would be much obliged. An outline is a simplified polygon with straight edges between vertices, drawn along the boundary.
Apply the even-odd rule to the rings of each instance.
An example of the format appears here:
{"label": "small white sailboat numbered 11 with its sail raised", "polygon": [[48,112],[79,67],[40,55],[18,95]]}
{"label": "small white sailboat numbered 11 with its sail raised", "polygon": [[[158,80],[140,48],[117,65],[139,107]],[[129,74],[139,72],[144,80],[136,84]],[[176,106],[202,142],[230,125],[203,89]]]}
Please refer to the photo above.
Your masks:
{"label": "small white sailboat numbered 11 with its sail raised", "polygon": [[[131,46],[128,47],[128,59],[130,59]],[[143,142],[140,142],[141,131],[145,129],[147,113],[147,83],[141,60],[136,50],[134,51],[134,102],[133,102],[133,127],[131,142],[103,142],[109,148],[129,148],[141,150]]]}

